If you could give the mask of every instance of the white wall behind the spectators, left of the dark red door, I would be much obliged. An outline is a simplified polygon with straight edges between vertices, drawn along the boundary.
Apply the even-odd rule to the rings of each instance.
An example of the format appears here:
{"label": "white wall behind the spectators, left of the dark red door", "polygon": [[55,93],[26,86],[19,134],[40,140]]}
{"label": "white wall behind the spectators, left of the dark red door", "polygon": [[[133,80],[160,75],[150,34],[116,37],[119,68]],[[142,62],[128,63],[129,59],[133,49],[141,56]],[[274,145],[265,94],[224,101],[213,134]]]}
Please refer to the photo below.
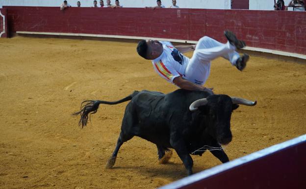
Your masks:
{"label": "white wall behind the spectators, left of the dark red door", "polygon": [[[64,0],[0,0],[2,6],[60,6]],[[78,0],[67,0],[71,6],[77,6]],[[93,6],[94,0],[79,0],[82,7]],[[99,5],[99,0],[98,5]],[[106,0],[103,0],[106,4]],[[156,0],[119,0],[124,7],[156,6]],[[166,7],[172,5],[172,0],[161,0]],[[111,0],[115,4],[115,0]],[[180,8],[230,9],[230,0],[177,0]]]}

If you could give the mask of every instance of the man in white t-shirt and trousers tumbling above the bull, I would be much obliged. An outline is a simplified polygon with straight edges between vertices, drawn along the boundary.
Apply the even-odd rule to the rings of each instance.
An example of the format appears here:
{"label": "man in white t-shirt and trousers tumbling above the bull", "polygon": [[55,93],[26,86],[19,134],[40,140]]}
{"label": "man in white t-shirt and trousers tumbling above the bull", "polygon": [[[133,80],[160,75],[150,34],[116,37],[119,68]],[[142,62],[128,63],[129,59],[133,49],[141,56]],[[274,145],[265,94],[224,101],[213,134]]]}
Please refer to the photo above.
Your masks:
{"label": "man in white t-shirt and trousers tumbling above the bull", "polygon": [[[231,31],[224,32],[228,42],[220,43],[204,36],[196,45],[180,45],[174,47],[170,42],[141,40],[137,53],[145,59],[152,60],[155,71],[165,80],[186,90],[207,90],[203,86],[210,73],[210,61],[224,57],[242,71],[249,60],[248,54],[240,55],[235,51],[245,47],[245,42],[238,40]],[[192,58],[184,56],[194,50]]]}

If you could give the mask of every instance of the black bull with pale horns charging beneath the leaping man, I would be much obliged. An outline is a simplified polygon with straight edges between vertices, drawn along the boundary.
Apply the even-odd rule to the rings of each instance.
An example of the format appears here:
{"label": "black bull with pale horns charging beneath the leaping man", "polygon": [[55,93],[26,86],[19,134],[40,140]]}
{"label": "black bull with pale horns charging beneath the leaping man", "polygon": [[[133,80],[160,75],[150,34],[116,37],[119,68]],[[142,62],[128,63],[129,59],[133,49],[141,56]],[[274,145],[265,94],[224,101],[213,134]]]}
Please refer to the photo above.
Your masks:
{"label": "black bull with pale horns charging beneath the leaping man", "polygon": [[100,104],[114,105],[129,100],[117,146],[106,168],[113,167],[124,142],[133,136],[139,136],[156,144],[160,161],[166,158],[163,161],[167,162],[170,157],[166,155],[171,154],[168,148],[175,149],[188,174],[192,174],[193,166],[190,154],[201,156],[204,151],[197,150],[203,146],[219,148],[210,152],[221,162],[229,162],[228,156],[220,147],[228,144],[232,138],[231,112],[239,107],[238,104],[256,104],[228,95],[210,95],[206,91],[178,89],[163,94],[143,90],[134,91],[116,102],[84,101],[81,110],[75,115],[80,114],[79,125],[83,128],[87,124],[88,114],[96,113]]}

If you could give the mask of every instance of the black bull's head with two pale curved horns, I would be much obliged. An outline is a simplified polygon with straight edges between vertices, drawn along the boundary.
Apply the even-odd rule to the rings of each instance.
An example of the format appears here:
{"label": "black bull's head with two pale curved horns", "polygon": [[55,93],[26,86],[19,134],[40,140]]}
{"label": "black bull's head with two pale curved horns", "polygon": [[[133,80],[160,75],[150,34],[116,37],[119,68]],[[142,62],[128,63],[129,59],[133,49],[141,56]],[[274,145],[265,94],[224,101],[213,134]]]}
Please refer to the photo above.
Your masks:
{"label": "black bull's head with two pale curved horns", "polygon": [[228,95],[212,95],[204,99],[194,101],[190,111],[200,110],[205,115],[205,125],[208,125],[208,133],[218,143],[226,145],[231,141],[230,117],[232,110],[239,107],[239,104],[255,106],[256,101],[229,97]]}

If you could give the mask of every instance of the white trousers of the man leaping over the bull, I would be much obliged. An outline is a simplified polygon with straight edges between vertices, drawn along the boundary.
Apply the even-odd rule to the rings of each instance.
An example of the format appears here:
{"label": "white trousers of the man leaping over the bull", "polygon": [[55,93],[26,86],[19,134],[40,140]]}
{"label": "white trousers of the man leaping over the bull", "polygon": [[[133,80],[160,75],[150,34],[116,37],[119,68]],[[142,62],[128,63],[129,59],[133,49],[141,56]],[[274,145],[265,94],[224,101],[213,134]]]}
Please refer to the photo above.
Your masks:
{"label": "white trousers of the man leaping over the bull", "polygon": [[235,50],[229,42],[223,44],[210,37],[202,37],[192,58],[189,59],[185,79],[195,84],[204,84],[210,73],[210,61],[221,56],[228,59],[232,65],[236,65],[240,56]]}

